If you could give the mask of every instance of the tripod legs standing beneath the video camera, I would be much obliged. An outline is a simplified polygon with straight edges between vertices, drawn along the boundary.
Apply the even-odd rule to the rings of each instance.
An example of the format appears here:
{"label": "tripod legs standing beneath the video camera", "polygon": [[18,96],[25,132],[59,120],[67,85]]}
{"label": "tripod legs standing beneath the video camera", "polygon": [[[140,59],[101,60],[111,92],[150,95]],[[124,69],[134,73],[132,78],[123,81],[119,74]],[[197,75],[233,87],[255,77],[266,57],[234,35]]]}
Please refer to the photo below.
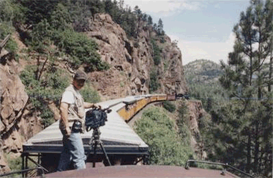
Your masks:
{"label": "tripod legs standing beneath the video camera", "polygon": [[88,155],[90,155],[91,148],[92,147],[94,148],[93,168],[95,168],[95,164],[96,164],[95,159],[97,157],[97,152],[96,152],[97,151],[97,144],[99,144],[99,146],[102,148],[102,151],[104,152],[104,156],[106,157],[106,160],[107,160],[109,166],[111,166],[111,163],[110,163],[108,155],[107,155],[107,153],[105,151],[104,145],[102,144],[102,141],[99,140],[99,135],[100,135],[99,128],[98,127],[94,128],[92,138],[89,141],[90,148],[89,148],[89,151],[88,151]]}

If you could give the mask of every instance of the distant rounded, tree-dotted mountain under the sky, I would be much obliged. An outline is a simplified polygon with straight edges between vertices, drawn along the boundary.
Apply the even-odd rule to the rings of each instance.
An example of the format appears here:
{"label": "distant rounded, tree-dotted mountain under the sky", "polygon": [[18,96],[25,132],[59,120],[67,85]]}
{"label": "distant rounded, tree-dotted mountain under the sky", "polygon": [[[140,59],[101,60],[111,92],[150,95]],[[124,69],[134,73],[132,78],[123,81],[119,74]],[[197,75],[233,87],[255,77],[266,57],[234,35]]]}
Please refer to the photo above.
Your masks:
{"label": "distant rounded, tree-dotted mountain under the sky", "polygon": [[198,59],[184,66],[187,84],[210,84],[218,81],[223,74],[221,66],[211,60]]}

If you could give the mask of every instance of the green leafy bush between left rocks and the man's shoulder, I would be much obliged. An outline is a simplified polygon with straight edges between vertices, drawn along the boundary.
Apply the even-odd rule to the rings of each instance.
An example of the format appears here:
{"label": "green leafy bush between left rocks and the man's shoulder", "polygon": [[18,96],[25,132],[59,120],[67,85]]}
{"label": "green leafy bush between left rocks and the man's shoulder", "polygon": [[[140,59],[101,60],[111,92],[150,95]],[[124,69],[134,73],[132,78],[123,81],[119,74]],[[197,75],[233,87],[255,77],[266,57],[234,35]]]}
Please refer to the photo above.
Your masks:
{"label": "green leafy bush between left rocks and the man's shoulder", "polygon": [[21,73],[21,80],[25,85],[29,100],[32,102],[33,111],[41,111],[40,117],[43,125],[49,126],[54,122],[54,115],[48,107],[49,101],[60,100],[62,91],[69,85],[69,77],[62,69],[51,69],[40,80],[36,75],[37,66],[27,66]]}

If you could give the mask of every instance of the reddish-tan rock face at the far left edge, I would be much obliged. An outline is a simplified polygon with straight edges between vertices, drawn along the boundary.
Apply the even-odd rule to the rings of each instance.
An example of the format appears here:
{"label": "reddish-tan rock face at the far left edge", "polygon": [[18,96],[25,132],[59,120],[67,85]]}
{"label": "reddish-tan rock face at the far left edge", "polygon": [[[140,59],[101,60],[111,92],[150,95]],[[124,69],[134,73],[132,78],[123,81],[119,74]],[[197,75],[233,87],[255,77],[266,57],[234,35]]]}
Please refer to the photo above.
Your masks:
{"label": "reddish-tan rock face at the far left edge", "polygon": [[3,153],[20,153],[28,137],[40,131],[39,119],[27,113],[28,96],[19,78],[20,66],[4,49],[0,54],[0,173],[9,171]]}

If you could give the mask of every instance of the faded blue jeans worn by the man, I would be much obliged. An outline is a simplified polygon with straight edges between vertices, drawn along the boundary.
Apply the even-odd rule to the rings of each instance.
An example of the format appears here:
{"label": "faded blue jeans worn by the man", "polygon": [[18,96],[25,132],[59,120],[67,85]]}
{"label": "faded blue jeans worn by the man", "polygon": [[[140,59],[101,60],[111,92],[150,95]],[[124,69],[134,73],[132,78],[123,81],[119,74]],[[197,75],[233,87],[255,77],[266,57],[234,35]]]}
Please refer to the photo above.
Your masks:
{"label": "faded blue jeans worn by the man", "polygon": [[71,133],[69,137],[63,134],[62,137],[63,150],[60,155],[60,161],[57,171],[67,170],[71,161],[75,169],[86,168],[84,155],[84,145],[80,133]]}

